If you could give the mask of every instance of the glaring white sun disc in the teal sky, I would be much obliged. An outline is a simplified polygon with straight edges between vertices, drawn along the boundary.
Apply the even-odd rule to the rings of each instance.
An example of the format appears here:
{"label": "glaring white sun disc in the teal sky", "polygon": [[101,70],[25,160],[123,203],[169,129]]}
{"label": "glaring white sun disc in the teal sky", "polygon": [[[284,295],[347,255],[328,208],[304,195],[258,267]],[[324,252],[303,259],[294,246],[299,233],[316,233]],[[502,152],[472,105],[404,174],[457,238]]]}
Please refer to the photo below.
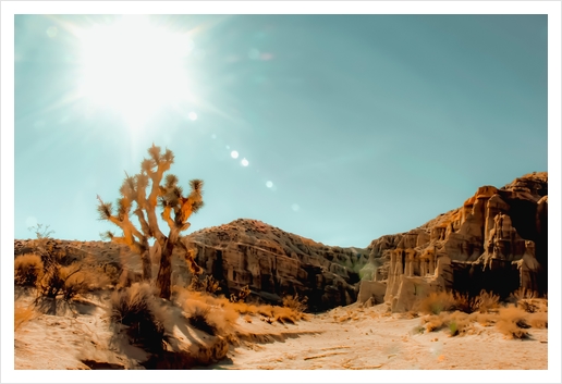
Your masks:
{"label": "glaring white sun disc in the teal sky", "polygon": [[163,107],[192,99],[185,69],[193,49],[188,34],[126,15],[77,35],[80,96],[118,111],[129,125],[142,126]]}

